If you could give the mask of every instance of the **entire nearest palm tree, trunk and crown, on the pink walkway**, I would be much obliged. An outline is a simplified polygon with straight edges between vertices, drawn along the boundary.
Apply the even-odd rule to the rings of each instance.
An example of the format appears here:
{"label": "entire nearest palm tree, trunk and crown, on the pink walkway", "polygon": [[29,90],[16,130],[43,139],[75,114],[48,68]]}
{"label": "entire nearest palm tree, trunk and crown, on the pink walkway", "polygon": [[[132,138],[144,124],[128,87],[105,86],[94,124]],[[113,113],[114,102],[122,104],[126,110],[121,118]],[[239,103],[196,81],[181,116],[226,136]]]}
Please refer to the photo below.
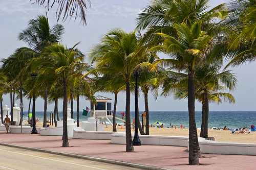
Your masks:
{"label": "entire nearest palm tree, trunk and crown, on the pink walkway", "polygon": [[189,164],[199,164],[198,157],[201,156],[195,120],[195,71],[211,45],[210,36],[201,31],[201,24],[202,21],[195,22],[191,28],[184,24],[175,25],[178,38],[158,33],[163,36],[164,41],[163,45],[155,47],[155,50],[161,50],[172,58],[158,60],[155,64],[185,68],[188,72]]}

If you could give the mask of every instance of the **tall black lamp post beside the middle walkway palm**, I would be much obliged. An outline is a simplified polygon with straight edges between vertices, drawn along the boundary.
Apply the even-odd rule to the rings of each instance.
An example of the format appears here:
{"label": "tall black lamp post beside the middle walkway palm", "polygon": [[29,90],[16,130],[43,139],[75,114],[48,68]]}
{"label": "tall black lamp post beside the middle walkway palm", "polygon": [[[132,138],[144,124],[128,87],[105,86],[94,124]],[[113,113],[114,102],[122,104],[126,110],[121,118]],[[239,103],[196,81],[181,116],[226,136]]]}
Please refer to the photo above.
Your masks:
{"label": "tall black lamp post beside the middle walkway palm", "polygon": [[139,113],[139,104],[138,104],[138,77],[140,77],[140,72],[138,69],[134,71],[135,77],[135,133],[133,138],[133,145],[140,146],[140,138],[138,134],[138,113]]}

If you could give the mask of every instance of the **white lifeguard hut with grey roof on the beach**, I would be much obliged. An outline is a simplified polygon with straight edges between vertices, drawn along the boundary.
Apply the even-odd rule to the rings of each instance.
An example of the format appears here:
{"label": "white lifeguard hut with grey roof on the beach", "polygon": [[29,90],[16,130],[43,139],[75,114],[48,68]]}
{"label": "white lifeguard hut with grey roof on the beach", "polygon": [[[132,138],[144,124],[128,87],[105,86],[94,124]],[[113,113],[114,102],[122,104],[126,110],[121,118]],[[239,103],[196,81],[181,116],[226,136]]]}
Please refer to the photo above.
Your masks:
{"label": "white lifeguard hut with grey roof on the beach", "polygon": [[[103,119],[105,125],[105,119],[109,121],[109,123],[113,126],[112,122],[110,119],[113,118],[113,113],[112,113],[112,103],[109,102],[112,99],[103,97],[101,95],[95,96],[96,100],[96,105],[91,99],[86,99],[87,101],[91,102],[91,111],[90,111],[90,117],[95,117],[95,115],[98,115],[98,119]],[[108,127],[106,125],[106,127]]]}

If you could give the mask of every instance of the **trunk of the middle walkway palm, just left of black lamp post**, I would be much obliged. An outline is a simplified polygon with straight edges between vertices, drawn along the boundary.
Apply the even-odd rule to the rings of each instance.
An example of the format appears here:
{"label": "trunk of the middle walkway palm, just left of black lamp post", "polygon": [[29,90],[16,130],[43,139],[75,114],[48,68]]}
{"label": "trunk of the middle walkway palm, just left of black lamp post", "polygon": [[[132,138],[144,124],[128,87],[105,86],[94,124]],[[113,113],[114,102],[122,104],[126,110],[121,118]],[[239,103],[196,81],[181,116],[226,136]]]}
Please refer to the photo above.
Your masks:
{"label": "trunk of the middle walkway palm, just left of black lamp post", "polygon": [[130,119],[130,103],[131,103],[130,81],[126,80],[126,106],[125,106],[125,134],[126,134],[126,152],[134,152],[131,119]]}

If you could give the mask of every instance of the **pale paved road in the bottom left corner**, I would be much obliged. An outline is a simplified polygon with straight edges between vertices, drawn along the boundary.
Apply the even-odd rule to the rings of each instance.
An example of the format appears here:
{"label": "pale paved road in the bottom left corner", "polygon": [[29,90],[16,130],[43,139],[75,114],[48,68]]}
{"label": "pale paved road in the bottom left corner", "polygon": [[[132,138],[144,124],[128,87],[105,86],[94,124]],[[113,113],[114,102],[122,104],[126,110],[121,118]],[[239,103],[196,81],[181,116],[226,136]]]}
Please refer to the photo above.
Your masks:
{"label": "pale paved road in the bottom left corner", "polygon": [[0,169],[136,169],[0,145]]}

